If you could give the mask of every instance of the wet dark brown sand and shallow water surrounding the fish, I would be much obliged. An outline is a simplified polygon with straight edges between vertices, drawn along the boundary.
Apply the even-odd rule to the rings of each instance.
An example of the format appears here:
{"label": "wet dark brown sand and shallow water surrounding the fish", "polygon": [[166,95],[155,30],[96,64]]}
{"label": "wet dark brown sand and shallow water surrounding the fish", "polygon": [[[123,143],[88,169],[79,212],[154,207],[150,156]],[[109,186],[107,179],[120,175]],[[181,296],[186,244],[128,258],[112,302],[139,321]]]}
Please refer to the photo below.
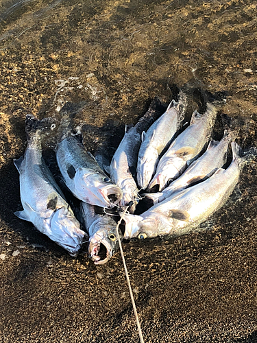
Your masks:
{"label": "wet dark brown sand and shallow water surrounding the fish", "polygon": [[[73,259],[14,216],[25,115],[84,102],[75,125],[94,152],[177,84],[188,117],[196,88],[227,91],[219,113],[257,146],[256,15],[236,0],[1,1],[0,342],[139,341],[120,254],[98,267]],[[208,230],[123,243],[145,342],[257,341],[256,163],[238,187]]]}

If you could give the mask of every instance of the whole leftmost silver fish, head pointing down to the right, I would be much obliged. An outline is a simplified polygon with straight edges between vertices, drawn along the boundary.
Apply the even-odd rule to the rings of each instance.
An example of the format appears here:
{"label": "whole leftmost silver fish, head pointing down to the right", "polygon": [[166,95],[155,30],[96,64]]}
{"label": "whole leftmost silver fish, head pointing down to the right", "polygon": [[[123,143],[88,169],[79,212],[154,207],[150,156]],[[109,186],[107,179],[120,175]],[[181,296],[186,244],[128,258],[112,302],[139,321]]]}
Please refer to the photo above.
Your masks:
{"label": "whole leftmost silver fish, head pointing down to the right", "polygon": [[20,173],[23,211],[14,214],[32,222],[41,233],[75,256],[86,233],[80,230],[71,207],[42,159],[40,131],[49,125],[47,119],[26,117],[27,149],[24,156],[14,160]]}

